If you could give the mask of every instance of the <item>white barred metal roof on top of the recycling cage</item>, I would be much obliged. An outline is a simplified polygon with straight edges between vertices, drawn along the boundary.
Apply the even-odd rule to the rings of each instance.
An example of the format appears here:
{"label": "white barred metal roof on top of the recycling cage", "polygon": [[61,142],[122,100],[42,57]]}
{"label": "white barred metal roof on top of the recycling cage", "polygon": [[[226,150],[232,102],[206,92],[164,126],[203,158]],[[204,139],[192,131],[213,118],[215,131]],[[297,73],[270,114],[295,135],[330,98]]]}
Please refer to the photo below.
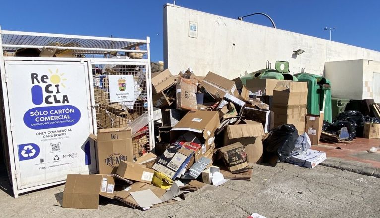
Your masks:
{"label": "white barred metal roof on top of the recycling cage", "polygon": [[[137,46],[146,48],[146,40],[112,37],[95,37],[51,33],[35,33],[1,30],[2,50],[15,52],[18,48],[56,48],[71,49],[74,54],[110,54],[111,52],[134,52],[147,54],[147,50],[138,50]],[[141,54],[141,55],[142,55]]]}

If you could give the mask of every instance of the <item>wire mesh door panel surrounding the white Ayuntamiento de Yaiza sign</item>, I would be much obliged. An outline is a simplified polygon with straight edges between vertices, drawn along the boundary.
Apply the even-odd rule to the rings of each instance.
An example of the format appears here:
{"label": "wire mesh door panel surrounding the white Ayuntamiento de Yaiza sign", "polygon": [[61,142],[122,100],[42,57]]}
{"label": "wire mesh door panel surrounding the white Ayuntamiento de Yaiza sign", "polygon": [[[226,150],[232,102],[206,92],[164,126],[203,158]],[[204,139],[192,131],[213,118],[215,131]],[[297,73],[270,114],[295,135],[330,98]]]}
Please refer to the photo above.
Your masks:
{"label": "wire mesh door panel surrounding the white Ayuntamiento de Yaiza sign", "polygon": [[[98,130],[126,127],[148,111],[146,70],[145,65],[92,64]],[[109,87],[111,75],[133,75],[134,84],[120,81],[122,81],[121,84],[125,82],[126,86],[134,87],[135,101],[112,102]],[[136,158],[150,151],[148,125],[133,135],[133,151]]]}

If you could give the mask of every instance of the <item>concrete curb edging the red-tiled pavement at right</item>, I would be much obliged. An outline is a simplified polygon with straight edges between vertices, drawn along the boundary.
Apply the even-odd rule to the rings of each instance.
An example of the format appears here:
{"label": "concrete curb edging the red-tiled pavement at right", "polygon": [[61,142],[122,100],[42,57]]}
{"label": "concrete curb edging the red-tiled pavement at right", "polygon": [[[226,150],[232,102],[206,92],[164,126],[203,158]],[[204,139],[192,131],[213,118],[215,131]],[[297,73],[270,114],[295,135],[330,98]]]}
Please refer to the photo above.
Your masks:
{"label": "concrete curb edging the red-tiled pavement at right", "polygon": [[368,163],[348,161],[340,158],[328,158],[322,163],[319,163],[319,165],[380,178],[380,168],[372,167]]}

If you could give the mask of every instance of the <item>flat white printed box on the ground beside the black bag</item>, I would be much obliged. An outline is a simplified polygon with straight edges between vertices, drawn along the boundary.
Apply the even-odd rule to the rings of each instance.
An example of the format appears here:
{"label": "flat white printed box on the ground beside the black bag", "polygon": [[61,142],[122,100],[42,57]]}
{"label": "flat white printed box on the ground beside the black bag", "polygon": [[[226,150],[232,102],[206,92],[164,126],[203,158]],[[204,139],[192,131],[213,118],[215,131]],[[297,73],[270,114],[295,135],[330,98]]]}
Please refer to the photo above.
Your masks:
{"label": "flat white printed box on the ground beside the black bag", "polygon": [[313,169],[326,159],[327,156],[325,152],[308,149],[298,155],[286,159],[285,162]]}

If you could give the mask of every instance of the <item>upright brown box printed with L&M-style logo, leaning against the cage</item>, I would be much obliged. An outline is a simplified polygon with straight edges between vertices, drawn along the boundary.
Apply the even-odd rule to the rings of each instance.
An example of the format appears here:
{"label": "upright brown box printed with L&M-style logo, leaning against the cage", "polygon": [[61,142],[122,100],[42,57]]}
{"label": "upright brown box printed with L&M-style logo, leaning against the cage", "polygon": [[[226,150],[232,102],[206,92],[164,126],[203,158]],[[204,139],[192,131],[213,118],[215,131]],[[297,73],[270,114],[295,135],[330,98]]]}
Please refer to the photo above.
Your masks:
{"label": "upright brown box printed with L&M-style logo, leaning against the cage", "polygon": [[132,130],[130,128],[100,129],[97,141],[100,174],[115,174],[121,161],[133,162]]}

